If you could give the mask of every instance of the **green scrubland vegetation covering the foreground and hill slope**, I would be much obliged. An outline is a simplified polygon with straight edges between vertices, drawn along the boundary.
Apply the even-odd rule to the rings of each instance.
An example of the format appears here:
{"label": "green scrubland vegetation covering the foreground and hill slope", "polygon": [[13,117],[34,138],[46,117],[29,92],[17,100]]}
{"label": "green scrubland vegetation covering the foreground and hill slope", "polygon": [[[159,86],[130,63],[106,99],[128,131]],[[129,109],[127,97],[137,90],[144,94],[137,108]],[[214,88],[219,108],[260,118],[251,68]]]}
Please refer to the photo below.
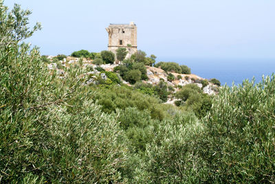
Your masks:
{"label": "green scrubland vegetation covering the foreground and hill slope", "polygon": [[275,182],[274,75],[214,97],[189,84],[162,104],[173,88],[137,82],[153,56],[117,69],[133,87],[104,69],[86,84],[82,60],[59,78],[21,42],[41,27],[25,27],[30,12],[0,7],[0,183]]}

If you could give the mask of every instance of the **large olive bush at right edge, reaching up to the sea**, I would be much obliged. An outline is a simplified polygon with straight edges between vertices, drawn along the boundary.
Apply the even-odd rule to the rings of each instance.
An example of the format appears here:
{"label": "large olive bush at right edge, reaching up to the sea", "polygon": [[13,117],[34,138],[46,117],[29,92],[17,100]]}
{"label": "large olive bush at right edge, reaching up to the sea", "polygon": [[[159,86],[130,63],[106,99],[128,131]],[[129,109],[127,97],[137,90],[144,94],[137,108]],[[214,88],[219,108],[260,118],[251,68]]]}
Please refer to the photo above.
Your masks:
{"label": "large olive bush at right edge, reaching up to the sea", "polygon": [[270,183],[275,181],[274,75],[254,84],[223,87],[214,100],[204,141],[209,181]]}

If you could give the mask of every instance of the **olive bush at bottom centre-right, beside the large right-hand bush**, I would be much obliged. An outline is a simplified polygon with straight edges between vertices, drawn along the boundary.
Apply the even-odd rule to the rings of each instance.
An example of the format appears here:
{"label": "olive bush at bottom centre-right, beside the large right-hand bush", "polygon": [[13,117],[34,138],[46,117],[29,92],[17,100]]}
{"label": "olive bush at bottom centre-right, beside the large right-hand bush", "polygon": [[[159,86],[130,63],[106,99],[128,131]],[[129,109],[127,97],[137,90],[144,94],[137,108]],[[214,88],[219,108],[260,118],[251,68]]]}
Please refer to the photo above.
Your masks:
{"label": "olive bush at bottom centre-right, beside the large right-hand bush", "polygon": [[135,170],[133,183],[200,183],[208,176],[205,161],[197,157],[197,139],[203,125],[195,115],[185,113],[159,123],[145,157]]}

